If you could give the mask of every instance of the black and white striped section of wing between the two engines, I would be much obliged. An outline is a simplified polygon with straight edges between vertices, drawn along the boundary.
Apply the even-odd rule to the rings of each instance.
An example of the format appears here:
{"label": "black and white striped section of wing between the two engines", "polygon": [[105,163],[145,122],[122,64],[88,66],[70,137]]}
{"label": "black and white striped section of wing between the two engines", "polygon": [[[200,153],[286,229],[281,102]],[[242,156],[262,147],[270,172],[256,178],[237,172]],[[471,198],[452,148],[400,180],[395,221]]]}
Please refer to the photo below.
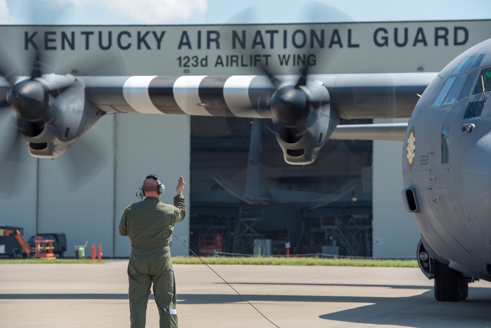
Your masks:
{"label": "black and white striped section of wing between the two engines", "polygon": [[[127,106],[140,113],[269,118],[269,108],[259,103],[265,103],[273,92],[265,76],[132,76],[124,81],[122,97]],[[91,97],[96,106],[111,106],[109,98],[122,101],[116,101],[114,93],[99,91]],[[120,106],[117,111],[130,110]]]}

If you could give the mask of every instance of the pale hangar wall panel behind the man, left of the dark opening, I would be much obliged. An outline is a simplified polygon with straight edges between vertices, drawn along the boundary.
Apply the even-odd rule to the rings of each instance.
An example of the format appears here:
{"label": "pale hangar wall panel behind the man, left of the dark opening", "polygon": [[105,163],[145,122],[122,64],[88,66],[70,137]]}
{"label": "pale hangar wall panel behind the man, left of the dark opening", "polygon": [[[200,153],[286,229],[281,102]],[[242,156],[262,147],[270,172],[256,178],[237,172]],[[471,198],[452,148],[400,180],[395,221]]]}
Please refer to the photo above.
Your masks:
{"label": "pale hangar wall panel behind the man, left of the dark opening", "polygon": [[[138,200],[135,193],[147,174],[157,174],[165,185],[161,197],[164,203],[172,204],[176,195],[179,175],[190,181],[190,118],[186,115],[116,115],[115,130],[115,177],[114,193],[115,229],[124,208]],[[184,197],[189,207],[190,188],[184,188]],[[178,223],[174,235],[189,246],[189,218]],[[114,256],[129,256],[128,238],[115,233]],[[172,241],[172,255],[188,255],[188,250],[177,240]]]}

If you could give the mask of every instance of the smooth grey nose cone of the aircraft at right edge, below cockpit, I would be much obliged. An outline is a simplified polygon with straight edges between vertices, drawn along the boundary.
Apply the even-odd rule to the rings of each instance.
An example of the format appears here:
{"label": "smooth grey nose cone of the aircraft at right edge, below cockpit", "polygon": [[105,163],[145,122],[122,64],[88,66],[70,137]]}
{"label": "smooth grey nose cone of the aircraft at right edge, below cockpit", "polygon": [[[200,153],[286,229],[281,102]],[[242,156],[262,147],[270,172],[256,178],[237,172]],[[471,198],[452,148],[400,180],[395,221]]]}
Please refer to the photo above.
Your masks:
{"label": "smooth grey nose cone of the aircraft at right edge, below cockpit", "polygon": [[[469,147],[461,163],[464,197],[482,233],[491,239],[491,133]],[[470,223],[472,225],[472,222]]]}

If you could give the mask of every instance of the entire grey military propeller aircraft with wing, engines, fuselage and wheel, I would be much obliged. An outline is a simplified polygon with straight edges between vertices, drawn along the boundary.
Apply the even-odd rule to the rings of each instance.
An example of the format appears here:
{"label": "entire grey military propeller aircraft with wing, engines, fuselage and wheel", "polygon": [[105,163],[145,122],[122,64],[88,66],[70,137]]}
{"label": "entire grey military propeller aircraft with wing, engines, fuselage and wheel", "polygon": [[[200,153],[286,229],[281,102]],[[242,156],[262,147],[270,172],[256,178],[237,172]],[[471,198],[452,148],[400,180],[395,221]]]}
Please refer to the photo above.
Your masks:
{"label": "entire grey military propeller aircraft with wing, engines, fuselage and wheel", "polygon": [[[43,72],[41,62],[38,53],[30,76],[0,78],[0,105],[15,111],[34,157],[62,155],[106,113],[270,119],[295,165],[314,162],[329,138],[406,140],[402,194],[436,299],[464,300],[469,282],[491,281],[491,40],[440,73],[313,75],[307,64],[282,76],[74,76]],[[409,124],[338,126],[395,117]]]}

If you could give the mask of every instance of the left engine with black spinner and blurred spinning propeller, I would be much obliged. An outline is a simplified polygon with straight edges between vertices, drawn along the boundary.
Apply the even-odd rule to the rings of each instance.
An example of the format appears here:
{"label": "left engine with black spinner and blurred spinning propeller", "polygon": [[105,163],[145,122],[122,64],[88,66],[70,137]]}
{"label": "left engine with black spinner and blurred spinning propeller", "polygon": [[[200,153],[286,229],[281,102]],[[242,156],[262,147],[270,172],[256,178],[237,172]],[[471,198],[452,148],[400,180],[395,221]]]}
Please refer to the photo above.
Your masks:
{"label": "left engine with black spinner and blurred spinning propeller", "polygon": [[[42,57],[43,54],[38,51],[34,54],[29,77],[17,77],[14,81],[12,74],[2,74],[3,79],[0,79],[0,92],[3,91],[5,95],[0,98],[0,125],[4,126],[0,136],[0,174],[11,180],[15,180],[20,173],[19,166],[23,162],[21,152],[28,149],[34,157],[58,157],[82,135],[84,115],[93,110],[86,105],[84,88],[76,77],[43,74]],[[85,183],[88,174],[105,157],[106,152],[100,149],[103,140],[91,140],[89,144],[84,144],[84,139],[77,142],[77,148],[79,152],[84,148],[89,152],[90,162],[83,163],[80,155],[77,157],[70,151],[65,155],[67,159],[62,160],[66,163],[63,170],[72,179],[72,185]],[[28,147],[21,141],[27,142]],[[87,152],[84,152],[85,156]],[[4,188],[0,189],[0,193],[11,193],[6,191],[8,185],[12,184],[2,184]]]}

